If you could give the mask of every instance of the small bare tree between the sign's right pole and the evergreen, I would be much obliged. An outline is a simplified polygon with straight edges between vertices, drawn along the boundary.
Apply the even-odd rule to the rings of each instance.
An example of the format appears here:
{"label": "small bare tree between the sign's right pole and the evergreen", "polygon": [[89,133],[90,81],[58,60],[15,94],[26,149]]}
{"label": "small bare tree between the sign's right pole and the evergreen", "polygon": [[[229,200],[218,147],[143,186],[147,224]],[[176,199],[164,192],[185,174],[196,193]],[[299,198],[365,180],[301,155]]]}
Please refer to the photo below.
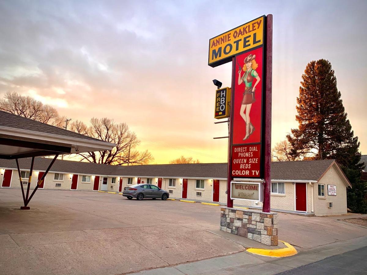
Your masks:
{"label": "small bare tree between the sign's right pole and the evergreen", "polygon": [[308,152],[306,151],[295,151],[287,140],[277,142],[272,149],[273,161],[296,161],[305,160]]}

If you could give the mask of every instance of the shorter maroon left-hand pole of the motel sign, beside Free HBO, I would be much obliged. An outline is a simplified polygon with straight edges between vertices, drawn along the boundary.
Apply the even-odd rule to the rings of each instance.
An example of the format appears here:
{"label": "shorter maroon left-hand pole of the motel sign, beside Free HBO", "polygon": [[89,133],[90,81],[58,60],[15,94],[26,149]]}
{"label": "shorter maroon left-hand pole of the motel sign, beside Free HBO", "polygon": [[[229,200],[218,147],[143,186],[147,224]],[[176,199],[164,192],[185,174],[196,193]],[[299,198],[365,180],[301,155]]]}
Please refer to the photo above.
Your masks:
{"label": "shorter maroon left-hand pole of the motel sign, beside Free HBO", "polygon": [[232,57],[232,83],[231,83],[231,99],[230,99],[230,115],[228,118],[228,170],[227,170],[227,207],[233,207],[233,200],[230,198],[230,182],[232,181],[232,128],[233,128],[233,105],[235,101],[235,82],[236,81],[236,57]]}

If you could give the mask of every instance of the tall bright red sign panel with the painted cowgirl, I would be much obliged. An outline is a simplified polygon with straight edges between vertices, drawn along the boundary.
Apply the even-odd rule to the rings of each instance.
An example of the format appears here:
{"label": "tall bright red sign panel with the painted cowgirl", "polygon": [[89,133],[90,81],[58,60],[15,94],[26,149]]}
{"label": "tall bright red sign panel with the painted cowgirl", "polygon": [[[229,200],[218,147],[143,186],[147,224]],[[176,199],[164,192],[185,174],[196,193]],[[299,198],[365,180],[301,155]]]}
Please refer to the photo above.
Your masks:
{"label": "tall bright red sign panel with the painted cowgirl", "polygon": [[261,142],[263,47],[236,56],[232,144]]}

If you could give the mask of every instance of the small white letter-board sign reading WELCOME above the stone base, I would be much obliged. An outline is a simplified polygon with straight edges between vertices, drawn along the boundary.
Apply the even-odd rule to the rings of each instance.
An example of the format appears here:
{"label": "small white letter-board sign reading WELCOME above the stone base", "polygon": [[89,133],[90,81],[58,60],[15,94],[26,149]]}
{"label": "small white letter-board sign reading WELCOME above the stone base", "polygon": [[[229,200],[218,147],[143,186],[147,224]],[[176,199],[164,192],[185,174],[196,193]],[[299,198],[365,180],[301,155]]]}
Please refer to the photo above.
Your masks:
{"label": "small white letter-board sign reading WELCOME above the stone base", "polygon": [[260,200],[260,184],[243,181],[231,181],[231,199]]}

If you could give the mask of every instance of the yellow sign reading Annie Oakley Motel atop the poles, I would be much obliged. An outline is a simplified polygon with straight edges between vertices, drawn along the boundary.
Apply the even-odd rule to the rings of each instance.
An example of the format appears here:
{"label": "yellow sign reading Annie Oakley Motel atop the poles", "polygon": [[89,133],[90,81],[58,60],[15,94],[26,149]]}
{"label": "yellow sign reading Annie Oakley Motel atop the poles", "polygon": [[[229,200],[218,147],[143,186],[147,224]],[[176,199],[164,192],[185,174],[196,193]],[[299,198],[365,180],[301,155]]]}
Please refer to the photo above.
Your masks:
{"label": "yellow sign reading Annie Oakley Motel atop the poles", "polygon": [[211,38],[208,65],[222,65],[236,54],[261,46],[264,43],[264,18],[265,15]]}

